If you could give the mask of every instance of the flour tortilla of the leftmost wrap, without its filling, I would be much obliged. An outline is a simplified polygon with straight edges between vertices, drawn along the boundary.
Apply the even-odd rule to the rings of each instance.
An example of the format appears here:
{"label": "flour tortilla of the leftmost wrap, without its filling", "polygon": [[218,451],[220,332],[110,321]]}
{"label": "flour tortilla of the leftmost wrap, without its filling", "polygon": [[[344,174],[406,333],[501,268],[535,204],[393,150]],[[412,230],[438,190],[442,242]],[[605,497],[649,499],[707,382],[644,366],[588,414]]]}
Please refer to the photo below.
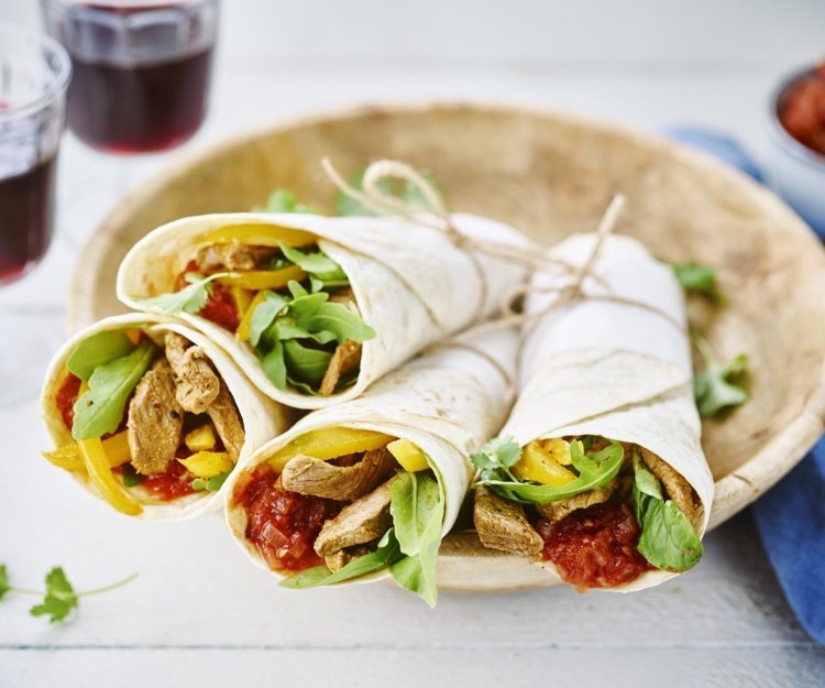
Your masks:
{"label": "flour tortilla of the leftmost wrap, without its filling", "polygon": [[[74,443],[72,432],[63,423],[55,404],[55,396],[63,383],[66,360],[77,346],[88,337],[105,330],[142,329],[157,342],[162,342],[164,332],[173,331],[186,337],[199,346],[209,357],[218,373],[227,383],[232,398],[238,406],[244,426],[244,443],[241,447],[238,466],[250,457],[258,447],[273,437],[277,437],[292,424],[292,412],[280,404],[267,398],[244,378],[243,373],[232,362],[229,356],[215,346],[201,332],[187,327],[172,318],[148,314],[130,314],[107,318],[96,323],[75,335],[55,354],[46,372],[46,379],[41,394],[41,413],[55,447]],[[91,494],[100,498],[88,476],[72,473],[73,477]],[[136,516],[146,521],[184,521],[194,518],[208,512],[220,510],[223,500],[221,490],[196,492],[175,500],[174,502],[158,502],[153,500],[140,488],[129,489],[129,494],[138,501],[143,511]],[[143,492],[143,493],[142,493]]]}

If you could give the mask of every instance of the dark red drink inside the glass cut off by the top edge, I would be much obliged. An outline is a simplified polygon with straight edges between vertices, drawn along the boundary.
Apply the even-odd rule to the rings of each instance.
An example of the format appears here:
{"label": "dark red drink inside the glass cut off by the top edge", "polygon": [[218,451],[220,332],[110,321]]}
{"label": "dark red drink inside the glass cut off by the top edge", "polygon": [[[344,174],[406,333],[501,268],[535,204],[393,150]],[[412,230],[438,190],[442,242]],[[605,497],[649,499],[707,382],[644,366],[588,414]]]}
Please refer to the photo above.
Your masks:
{"label": "dark red drink inside the glass cut off by the top edge", "polygon": [[85,143],[109,151],[174,148],[204,121],[211,57],[209,48],[130,69],[72,54],[69,128]]}

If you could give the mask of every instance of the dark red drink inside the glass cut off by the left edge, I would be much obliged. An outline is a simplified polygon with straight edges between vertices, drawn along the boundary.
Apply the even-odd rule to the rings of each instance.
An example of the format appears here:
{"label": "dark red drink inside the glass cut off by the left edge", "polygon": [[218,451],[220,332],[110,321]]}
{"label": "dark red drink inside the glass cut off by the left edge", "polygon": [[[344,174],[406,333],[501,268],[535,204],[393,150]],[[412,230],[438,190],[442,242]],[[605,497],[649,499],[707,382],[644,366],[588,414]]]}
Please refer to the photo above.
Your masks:
{"label": "dark red drink inside the glass cut off by the left edge", "polygon": [[0,284],[22,275],[48,249],[55,160],[48,157],[9,176],[0,167]]}

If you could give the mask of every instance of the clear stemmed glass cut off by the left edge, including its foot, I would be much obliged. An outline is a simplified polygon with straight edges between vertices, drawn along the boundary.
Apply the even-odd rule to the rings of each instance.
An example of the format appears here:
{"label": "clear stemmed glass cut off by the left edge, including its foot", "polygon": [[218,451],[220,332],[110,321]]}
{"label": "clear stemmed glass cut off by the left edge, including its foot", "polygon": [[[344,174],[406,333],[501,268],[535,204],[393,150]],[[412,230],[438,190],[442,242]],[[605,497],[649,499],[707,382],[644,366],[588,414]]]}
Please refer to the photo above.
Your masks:
{"label": "clear stemmed glass cut off by the left edge, including its foot", "polygon": [[[0,25],[0,286],[52,241],[57,150],[72,73],[48,36]],[[0,307],[0,404],[32,394],[51,354],[51,327],[25,305]]]}

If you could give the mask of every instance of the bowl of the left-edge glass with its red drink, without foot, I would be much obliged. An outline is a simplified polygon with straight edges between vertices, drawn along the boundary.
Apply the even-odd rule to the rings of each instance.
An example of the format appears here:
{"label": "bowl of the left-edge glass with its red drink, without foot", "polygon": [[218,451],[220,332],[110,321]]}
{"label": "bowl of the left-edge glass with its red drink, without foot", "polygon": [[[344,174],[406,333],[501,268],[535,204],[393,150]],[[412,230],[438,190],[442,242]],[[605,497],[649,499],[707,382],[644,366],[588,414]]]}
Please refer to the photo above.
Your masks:
{"label": "bowl of the left-edge glass with its red drink, without foot", "polygon": [[70,72],[48,36],[0,26],[0,285],[35,265],[52,241]]}

